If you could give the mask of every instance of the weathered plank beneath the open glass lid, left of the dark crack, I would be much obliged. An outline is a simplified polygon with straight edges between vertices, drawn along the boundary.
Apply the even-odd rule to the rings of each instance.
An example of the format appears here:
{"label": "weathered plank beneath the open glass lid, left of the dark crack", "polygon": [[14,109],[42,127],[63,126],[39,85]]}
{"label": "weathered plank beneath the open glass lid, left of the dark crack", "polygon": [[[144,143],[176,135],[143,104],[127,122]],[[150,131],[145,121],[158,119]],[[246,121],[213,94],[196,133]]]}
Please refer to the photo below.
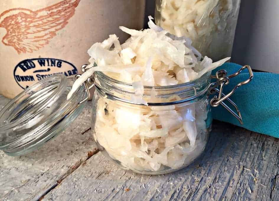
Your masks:
{"label": "weathered plank beneath the open glass lid, left of the dark crack", "polygon": [[[0,96],[0,109],[8,103]],[[0,200],[37,200],[94,155],[91,103],[58,137],[21,157],[0,152]]]}

